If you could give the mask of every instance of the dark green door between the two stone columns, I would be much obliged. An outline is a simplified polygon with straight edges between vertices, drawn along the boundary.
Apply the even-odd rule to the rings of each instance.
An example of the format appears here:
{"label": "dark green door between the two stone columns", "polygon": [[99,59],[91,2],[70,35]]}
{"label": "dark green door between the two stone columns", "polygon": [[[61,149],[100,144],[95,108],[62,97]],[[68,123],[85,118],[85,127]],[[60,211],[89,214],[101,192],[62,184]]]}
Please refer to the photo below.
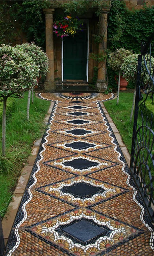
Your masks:
{"label": "dark green door between the two stone columns", "polygon": [[63,38],[63,79],[87,80],[87,33]]}

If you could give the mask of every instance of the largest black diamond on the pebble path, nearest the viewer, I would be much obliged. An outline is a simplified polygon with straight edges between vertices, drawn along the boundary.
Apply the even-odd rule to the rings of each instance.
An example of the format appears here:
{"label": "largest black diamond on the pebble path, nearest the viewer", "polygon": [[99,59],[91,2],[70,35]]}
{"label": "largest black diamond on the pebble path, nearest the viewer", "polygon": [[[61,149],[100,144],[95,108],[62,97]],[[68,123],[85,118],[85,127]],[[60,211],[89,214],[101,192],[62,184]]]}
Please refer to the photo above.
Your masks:
{"label": "largest black diamond on the pebble path, nearest the viewer", "polygon": [[60,236],[65,236],[73,240],[74,243],[87,245],[95,243],[99,237],[109,236],[112,232],[106,226],[98,226],[92,220],[81,218],[71,224],[60,225],[56,231]]}

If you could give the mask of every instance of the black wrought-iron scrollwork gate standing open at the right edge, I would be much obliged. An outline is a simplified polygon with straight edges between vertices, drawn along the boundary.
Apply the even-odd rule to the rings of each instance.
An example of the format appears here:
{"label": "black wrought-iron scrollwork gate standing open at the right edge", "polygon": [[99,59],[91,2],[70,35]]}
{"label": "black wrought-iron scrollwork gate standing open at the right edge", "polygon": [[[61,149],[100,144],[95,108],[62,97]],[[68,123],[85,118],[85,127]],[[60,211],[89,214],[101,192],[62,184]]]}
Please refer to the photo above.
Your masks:
{"label": "black wrought-iron scrollwork gate standing open at the right edge", "polygon": [[151,34],[147,43],[142,43],[141,54],[138,55],[130,170],[149,214],[154,220],[154,118],[152,111],[150,113],[147,107],[148,104],[154,104],[153,42],[154,33]]}

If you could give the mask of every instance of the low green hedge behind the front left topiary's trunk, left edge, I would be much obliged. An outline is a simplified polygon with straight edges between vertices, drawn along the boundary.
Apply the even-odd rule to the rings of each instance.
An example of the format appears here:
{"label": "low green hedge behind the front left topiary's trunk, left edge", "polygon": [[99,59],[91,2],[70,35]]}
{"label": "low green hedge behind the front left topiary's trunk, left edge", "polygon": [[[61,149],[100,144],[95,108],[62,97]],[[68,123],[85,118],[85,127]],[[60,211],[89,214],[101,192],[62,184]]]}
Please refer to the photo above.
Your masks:
{"label": "low green hedge behind the front left topiary's trunk, left edge", "polygon": [[[15,108],[15,100],[14,98],[9,98],[7,100],[7,107],[6,107],[6,121],[8,118],[11,117]],[[3,112],[3,102],[0,101],[0,125],[2,124],[2,112]]]}

